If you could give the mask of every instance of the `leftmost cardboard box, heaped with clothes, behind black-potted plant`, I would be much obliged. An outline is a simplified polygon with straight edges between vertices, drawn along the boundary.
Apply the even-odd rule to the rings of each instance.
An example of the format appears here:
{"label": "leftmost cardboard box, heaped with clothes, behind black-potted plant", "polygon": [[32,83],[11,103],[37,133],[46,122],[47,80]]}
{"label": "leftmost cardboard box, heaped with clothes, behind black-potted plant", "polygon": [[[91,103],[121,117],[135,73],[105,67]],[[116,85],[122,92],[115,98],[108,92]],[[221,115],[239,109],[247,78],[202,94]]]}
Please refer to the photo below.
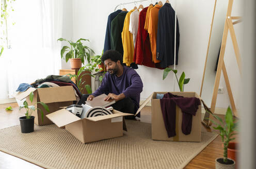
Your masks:
{"label": "leftmost cardboard box, heaped with clothes, behind black-potted plant", "polygon": [[[34,93],[33,103],[29,100],[29,94],[31,92]],[[59,110],[59,107],[72,105],[73,101],[76,100],[72,86],[28,88],[25,92],[18,92],[14,97],[19,100],[26,98],[28,106],[34,105],[37,102],[43,102],[49,107],[50,112],[47,112],[41,104],[34,105],[36,108],[43,110],[44,113],[43,121],[40,111],[36,110],[32,113],[32,115],[35,116],[35,124],[39,126],[53,124],[46,115]]]}

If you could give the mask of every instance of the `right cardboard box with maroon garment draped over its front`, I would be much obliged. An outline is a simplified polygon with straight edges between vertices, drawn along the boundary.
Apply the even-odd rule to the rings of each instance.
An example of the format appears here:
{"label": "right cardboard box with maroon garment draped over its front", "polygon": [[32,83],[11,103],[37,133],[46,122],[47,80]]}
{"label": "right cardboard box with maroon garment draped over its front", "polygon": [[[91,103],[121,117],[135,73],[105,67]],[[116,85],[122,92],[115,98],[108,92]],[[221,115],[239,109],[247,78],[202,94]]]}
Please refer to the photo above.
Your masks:
{"label": "right cardboard box with maroon garment draped over its front", "polygon": [[[168,138],[167,131],[164,124],[164,119],[161,110],[160,99],[156,99],[156,94],[165,94],[167,92],[154,92],[146,101],[140,106],[137,113],[151,100],[151,113],[152,113],[152,139],[162,141],[188,141],[200,142],[201,141],[201,105],[198,106],[196,115],[193,115],[191,133],[185,135],[182,133],[182,111],[176,106],[176,136]],[[175,95],[183,97],[197,97],[196,92],[170,92]],[[200,99],[201,100],[201,99]],[[136,113],[136,114],[137,114]]]}

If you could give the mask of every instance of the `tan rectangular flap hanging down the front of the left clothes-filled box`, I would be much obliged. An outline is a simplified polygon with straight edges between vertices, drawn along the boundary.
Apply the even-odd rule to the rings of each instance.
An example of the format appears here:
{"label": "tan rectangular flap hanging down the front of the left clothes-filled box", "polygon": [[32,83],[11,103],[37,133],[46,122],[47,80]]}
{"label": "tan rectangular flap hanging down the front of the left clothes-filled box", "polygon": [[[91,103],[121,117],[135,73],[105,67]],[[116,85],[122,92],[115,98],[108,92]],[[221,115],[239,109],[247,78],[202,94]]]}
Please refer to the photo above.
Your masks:
{"label": "tan rectangular flap hanging down the front of the left clothes-filled box", "polygon": [[76,100],[72,86],[62,86],[55,88],[39,88],[38,95],[40,102],[45,104],[55,102],[68,102]]}

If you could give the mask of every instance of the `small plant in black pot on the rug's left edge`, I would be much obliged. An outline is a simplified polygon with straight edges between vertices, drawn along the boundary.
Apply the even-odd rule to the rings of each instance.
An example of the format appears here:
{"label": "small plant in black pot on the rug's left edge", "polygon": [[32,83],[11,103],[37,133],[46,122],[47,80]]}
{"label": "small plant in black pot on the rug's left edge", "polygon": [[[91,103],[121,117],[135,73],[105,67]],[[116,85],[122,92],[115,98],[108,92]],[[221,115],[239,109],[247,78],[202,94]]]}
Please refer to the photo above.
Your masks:
{"label": "small plant in black pot on the rug's left edge", "polygon": [[[33,103],[33,98],[34,98],[34,93],[31,92],[29,94],[29,100],[31,103]],[[34,105],[36,104],[41,104],[43,106],[43,108],[47,111],[47,112],[50,112],[49,111],[49,107],[42,103],[42,102],[37,102],[35,103]],[[33,113],[33,111],[35,110],[40,110],[41,112],[41,117],[42,117],[42,121],[43,121],[43,111],[40,109],[40,108],[36,108],[34,105],[31,105],[31,106],[28,106],[28,103],[27,101],[25,100],[23,102],[23,106],[20,106],[20,110],[22,108],[25,108],[26,109],[26,113],[25,113],[25,116],[22,116],[20,117],[20,123],[21,123],[21,132],[22,133],[29,133],[29,132],[33,132],[34,131],[34,120],[35,120],[35,116],[31,116],[31,114]]]}

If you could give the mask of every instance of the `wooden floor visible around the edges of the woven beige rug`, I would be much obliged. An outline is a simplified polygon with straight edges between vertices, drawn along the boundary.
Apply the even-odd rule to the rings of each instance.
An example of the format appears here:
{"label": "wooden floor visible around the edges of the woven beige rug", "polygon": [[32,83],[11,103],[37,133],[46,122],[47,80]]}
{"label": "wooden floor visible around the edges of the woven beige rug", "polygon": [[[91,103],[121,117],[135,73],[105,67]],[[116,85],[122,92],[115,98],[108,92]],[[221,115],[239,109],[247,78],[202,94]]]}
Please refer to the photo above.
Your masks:
{"label": "wooden floor visible around the edges of the woven beige rug", "polygon": [[[6,111],[5,108],[11,106],[12,111]],[[19,125],[19,117],[24,116],[24,110],[19,111],[17,103],[0,105],[0,129]],[[224,115],[219,115],[224,119]],[[151,107],[145,107],[141,111],[141,122],[151,123]],[[211,128],[205,128],[202,125],[202,131],[213,132]],[[215,132],[215,131],[214,131]],[[1,138],[1,136],[0,136]],[[198,156],[191,160],[185,168],[215,168],[215,159],[223,155],[223,148],[220,136],[205,147]],[[22,166],[22,167],[21,167]],[[35,164],[29,163],[17,157],[8,155],[0,151],[0,168],[41,168]]]}

